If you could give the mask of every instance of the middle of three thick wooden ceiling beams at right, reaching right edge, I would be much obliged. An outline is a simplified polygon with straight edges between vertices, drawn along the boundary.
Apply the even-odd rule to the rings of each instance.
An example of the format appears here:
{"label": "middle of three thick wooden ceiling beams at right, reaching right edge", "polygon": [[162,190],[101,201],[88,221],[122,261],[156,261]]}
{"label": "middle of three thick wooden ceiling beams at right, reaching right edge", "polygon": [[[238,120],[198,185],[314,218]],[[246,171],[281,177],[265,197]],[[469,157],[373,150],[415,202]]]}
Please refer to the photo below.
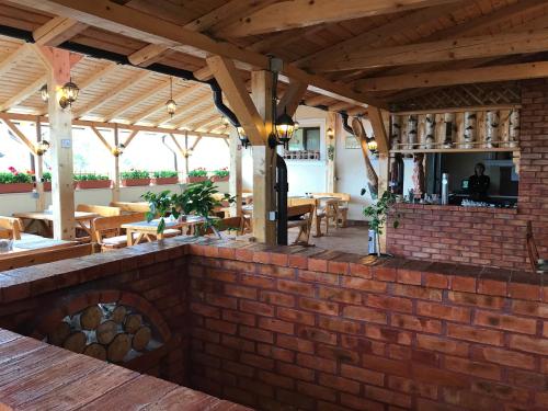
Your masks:
{"label": "middle of three thick wooden ceiling beams at right, reaching right edge", "polygon": [[548,30],[499,33],[438,42],[415,43],[384,48],[362,48],[349,55],[332,56],[315,67],[320,71],[359,70],[384,66],[538,53],[548,49]]}

